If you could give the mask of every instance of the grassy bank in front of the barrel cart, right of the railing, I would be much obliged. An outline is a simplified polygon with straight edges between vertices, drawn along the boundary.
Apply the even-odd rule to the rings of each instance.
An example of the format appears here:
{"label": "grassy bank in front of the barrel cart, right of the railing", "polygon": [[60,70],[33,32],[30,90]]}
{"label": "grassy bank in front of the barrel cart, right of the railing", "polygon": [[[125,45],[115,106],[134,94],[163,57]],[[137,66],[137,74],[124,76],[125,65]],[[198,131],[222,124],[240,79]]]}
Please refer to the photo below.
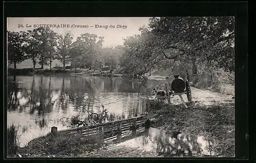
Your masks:
{"label": "grassy bank in front of the barrel cart, right of the railing", "polygon": [[187,103],[187,105],[189,108],[185,109],[182,104],[169,106],[161,102],[149,101],[149,117],[158,119],[152,127],[167,131],[181,131],[187,135],[204,136],[214,144],[212,149],[219,156],[233,157],[235,150],[233,102],[207,106],[196,106],[196,103]]}

